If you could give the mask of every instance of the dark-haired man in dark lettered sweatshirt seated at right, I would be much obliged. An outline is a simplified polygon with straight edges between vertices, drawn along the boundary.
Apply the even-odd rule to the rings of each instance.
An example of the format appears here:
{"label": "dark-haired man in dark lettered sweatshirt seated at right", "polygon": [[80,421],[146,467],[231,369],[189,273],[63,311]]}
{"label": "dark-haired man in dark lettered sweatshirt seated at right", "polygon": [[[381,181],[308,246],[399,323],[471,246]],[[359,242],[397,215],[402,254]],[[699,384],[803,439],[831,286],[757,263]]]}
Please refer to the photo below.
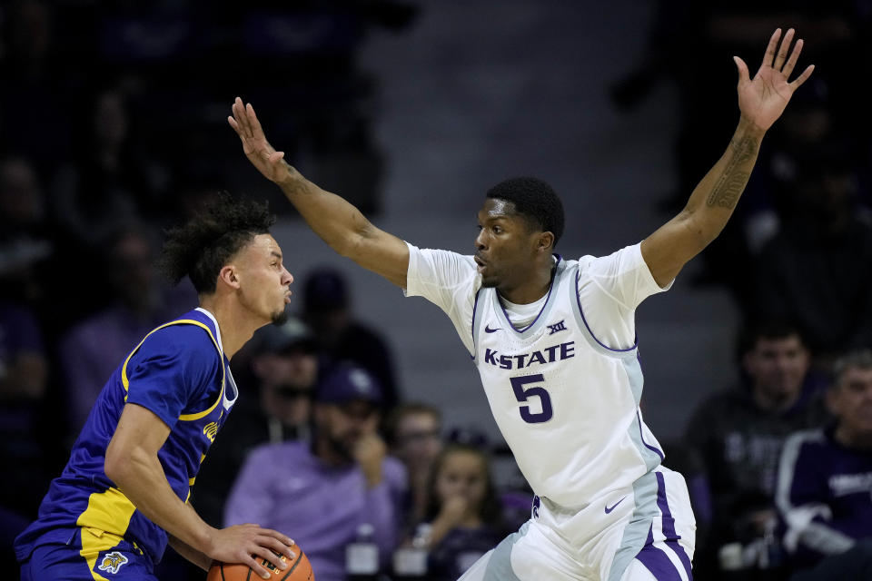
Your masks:
{"label": "dark-haired man in dark lettered sweatshirt seated at right", "polygon": [[778,457],[788,435],[826,420],[809,353],[798,331],[758,325],[742,345],[745,379],[720,391],[693,413],[685,434],[702,459],[711,492],[709,547],[697,564],[712,566],[728,543],[752,543],[775,522]]}

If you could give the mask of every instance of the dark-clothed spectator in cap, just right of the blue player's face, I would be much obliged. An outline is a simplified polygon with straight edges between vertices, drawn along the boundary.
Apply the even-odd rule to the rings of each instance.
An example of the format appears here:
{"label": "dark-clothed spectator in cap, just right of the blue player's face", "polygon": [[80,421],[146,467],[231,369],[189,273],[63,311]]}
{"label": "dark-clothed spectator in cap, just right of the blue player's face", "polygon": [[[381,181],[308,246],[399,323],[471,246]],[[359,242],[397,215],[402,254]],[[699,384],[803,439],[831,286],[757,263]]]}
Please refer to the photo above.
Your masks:
{"label": "dark-clothed spectator in cap, just right of the blue player's face", "polygon": [[394,379],[393,354],[381,334],[352,314],[352,298],[342,273],[323,268],[303,283],[303,319],[309,323],[320,349],[334,361],[351,360],[379,380],[382,413],[401,399]]}

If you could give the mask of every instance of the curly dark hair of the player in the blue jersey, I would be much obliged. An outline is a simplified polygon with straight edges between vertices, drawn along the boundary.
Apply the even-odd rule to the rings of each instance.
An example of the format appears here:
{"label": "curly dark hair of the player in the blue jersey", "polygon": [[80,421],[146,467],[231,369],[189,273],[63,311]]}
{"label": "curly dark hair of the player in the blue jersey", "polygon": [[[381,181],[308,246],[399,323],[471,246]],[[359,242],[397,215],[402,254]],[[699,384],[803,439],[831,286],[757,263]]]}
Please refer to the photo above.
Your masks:
{"label": "curly dark hair of the player in the blue jersey", "polygon": [[268,234],[274,223],[267,202],[235,200],[223,192],[190,221],[166,232],[157,267],[173,283],[188,276],[198,294],[211,294],[224,264],[255,236]]}

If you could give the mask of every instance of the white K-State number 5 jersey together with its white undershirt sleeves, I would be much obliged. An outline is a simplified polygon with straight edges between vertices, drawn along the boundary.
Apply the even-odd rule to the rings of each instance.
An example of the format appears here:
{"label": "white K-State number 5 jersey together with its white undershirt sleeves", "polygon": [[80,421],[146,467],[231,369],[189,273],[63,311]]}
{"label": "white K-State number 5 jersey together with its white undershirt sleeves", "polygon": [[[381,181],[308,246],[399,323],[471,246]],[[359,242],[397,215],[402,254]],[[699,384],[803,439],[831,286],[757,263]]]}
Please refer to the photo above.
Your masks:
{"label": "white K-State number 5 jersey together with its white undershirt sleeves", "polygon": [[522,330],[497,291],[481,288],[471,256],[409,244],[405,292],[451,318],[536,494],[579,508],[630,486],[663,458],[639,411],[634,318],[642,300],[671,283],[654,281],[639,244],[580,261],[556,258],[539,316]]}

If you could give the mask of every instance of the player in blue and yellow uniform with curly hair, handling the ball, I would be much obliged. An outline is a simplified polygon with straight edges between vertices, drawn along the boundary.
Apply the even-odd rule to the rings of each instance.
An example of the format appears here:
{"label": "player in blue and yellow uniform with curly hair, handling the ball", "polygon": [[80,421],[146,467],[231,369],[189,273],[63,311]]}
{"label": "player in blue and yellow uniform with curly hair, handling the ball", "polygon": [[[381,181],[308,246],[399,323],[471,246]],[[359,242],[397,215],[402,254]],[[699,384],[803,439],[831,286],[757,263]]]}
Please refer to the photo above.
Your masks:
{"label": "player in blue and yellow uniform with curly hair, handling the ball", "polygon": [[[151,331],[94,403],[39,517],[15,539],[21,578],[154,580],[167,542],[194,564],[286,567],[292,540],[257,525],[209,527],[187,503],[237,397],[229,361],[281,320],[291,273],[266,205],[222,197],[169,232],[163,270],[189,276],[200,306]],[[253,556],[257,556],[255,559]]]}

